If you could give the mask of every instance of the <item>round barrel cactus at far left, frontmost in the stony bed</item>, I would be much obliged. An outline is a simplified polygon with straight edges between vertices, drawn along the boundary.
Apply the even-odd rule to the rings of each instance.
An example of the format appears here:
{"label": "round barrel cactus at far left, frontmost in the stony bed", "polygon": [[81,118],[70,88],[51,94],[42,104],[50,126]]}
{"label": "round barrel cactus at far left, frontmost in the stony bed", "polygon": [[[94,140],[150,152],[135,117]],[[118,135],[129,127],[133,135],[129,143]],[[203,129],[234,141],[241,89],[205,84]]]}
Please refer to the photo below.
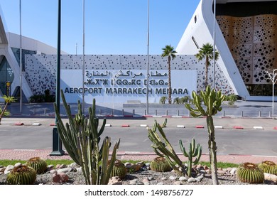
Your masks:
{"label": "round barrel cactus at far left, frontmost in the stony bed", "polygon": [[10,185],[33,185],[36,181],[36,170],[29,166],[17,166],[8,174],[6,181]]}

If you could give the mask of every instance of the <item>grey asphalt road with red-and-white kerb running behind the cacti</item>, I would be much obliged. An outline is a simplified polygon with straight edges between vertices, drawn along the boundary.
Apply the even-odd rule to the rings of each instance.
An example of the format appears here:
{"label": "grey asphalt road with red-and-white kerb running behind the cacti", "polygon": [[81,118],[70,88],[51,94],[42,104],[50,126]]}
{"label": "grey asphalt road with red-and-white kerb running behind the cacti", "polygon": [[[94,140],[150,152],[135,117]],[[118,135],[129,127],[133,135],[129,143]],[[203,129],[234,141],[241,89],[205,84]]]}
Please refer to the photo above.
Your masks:
{"label": "grey asphalt road with red-and-white kerb running behind the cacti", "polygon": [[[141,124],[153,126],[154,120],[162,123],[164,118],[147,119],[107,119],[107,124],[102,136],[111,136],[114,143],[121,139],[119,151],[153,152],[148,131]],[[66,119],[64,120],[67,121]],[[23,122],[23,126],[15,126],[16,122]],[[33,126],[39,122],[40,126]],[[0,149],[52,149],[52,131],[55,119],[38,118],[4,118],[0,126]],[[100,119],[100,122],[102,120]],[[164,129],[170,143],[177,152],[180,152],[178,140],[182,139],[184,146],[195,138],[207,154],[207,127],[205,118],[168,118],[167,127]],[[129,127],[122,127],[129,125]],[[177,128],[184,125],[184,128]],[[204,128],[195,128],[196,126]],[[276,119],[233,119],[214,118],[214,125],[223,129],[215,129],[218,154],[243,154],[277,156],[277,126]],[[234,127],[244,129],[234,129]],[[253,127],[263,127],[254,129]]]}

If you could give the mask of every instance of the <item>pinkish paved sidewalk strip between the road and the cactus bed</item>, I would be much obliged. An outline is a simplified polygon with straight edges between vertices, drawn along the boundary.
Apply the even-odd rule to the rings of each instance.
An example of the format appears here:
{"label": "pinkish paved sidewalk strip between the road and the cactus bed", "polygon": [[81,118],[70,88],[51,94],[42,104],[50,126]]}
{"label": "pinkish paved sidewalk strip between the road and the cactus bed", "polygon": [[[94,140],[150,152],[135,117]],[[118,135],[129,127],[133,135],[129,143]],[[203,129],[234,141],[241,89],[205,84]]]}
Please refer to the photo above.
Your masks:
{"label": "pinkish paved sidewalk strip between the road and the cactus bed", "polygon": [[[63,156],[50,156],[51,150],[21,150],[21,149],[1,149],[0,160],[14,159],[14,160],[28,160],[39,156],[43,159],[69,159],[70,156],[65,153]],[[187,159],[183,154],[178,154],[182,161]],[[153,152],[128,152],[118,151],[117,158],[121,160],[134,160],[134,161],[152,161],[157,155]],[[200,161],[210,161],[209,154],[202,154]],[[251,156],[251,155],[235,155],[235,154],[217,154],[217,162],[229,163],[261,163],[262,161],[273,161],[277,163],[277,156]]]}

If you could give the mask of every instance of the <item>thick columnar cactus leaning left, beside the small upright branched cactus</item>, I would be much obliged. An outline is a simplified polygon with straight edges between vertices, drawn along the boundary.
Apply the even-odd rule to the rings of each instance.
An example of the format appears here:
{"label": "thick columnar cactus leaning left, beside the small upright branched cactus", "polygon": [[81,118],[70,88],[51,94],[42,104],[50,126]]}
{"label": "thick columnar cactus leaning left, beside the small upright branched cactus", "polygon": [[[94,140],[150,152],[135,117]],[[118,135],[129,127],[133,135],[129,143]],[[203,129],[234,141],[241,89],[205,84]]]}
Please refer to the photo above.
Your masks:
{"label": "thick columnar cactus leaning left, beside the small upright branched cactus", "polygon": [[[171,168],[173,168],[180,176],[185,176],[187,174],[185,170],[185,166],[183,165],[178,155],[175,153],[173,147],[171,146],[170,142],[166,138],[165,133],[163,131],[163,127],[165,127],[166,122],[167,122],[167,119],[165,119],[165,122],[163,123],[163,125],[160,125],[155,120],[153,129],[148,128],[148,138],[153,143],[151,144],[151,147],[154,149],[155,153],[158,156],[164,157],[170,164]],[[157,129],[161,134],[162,139],[159,136]],[[179,168],[177,168],[177,166],[175,166],[174,162],[178,164],[180,170]]]}

